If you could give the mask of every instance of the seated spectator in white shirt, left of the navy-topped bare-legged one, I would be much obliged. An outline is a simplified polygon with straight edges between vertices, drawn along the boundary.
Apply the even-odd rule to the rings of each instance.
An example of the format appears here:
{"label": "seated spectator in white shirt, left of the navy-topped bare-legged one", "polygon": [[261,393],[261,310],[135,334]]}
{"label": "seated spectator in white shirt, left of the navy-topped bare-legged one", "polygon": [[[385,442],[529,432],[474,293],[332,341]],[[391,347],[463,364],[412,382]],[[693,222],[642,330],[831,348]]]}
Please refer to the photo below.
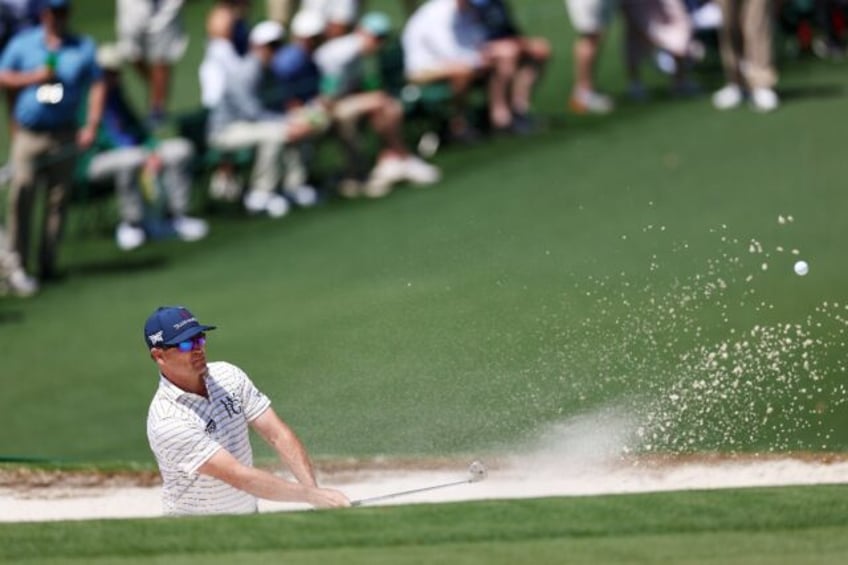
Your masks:
{"label": "seated spectator in white shirt, left of the navy-topped bare-legged one", "polygon": [[[404,67],[416,85],[447,82],[452,100],[449,129],[456,140],[471,141],[479,134],[468,119],[472,88],[490,76],[483,55],[486,31],[470,0],[428,0],[412,14],[403,30]],[[489,89],[496,86],[489,81]],[[500,103],[501,106],[497,106]],[[505,115],[503,96],[489,96],[490,115]]]}

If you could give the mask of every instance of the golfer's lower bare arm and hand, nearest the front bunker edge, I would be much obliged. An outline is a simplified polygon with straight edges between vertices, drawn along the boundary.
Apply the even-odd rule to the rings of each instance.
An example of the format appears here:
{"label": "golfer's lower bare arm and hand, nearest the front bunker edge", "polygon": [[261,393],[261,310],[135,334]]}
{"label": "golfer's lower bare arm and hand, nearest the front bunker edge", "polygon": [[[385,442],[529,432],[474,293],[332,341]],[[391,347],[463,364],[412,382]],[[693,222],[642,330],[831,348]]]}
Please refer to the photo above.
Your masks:
{"label": "golfer's lower bare arm and hand, nearest the front bunker edge", "polygon": [[267,471],[240,463],[226,449],[219,449],[198,472],[215,477],[257,498],[278,502],[306,502],[318,508],[350,506],[347,497],[332,489],[287,481]]}

